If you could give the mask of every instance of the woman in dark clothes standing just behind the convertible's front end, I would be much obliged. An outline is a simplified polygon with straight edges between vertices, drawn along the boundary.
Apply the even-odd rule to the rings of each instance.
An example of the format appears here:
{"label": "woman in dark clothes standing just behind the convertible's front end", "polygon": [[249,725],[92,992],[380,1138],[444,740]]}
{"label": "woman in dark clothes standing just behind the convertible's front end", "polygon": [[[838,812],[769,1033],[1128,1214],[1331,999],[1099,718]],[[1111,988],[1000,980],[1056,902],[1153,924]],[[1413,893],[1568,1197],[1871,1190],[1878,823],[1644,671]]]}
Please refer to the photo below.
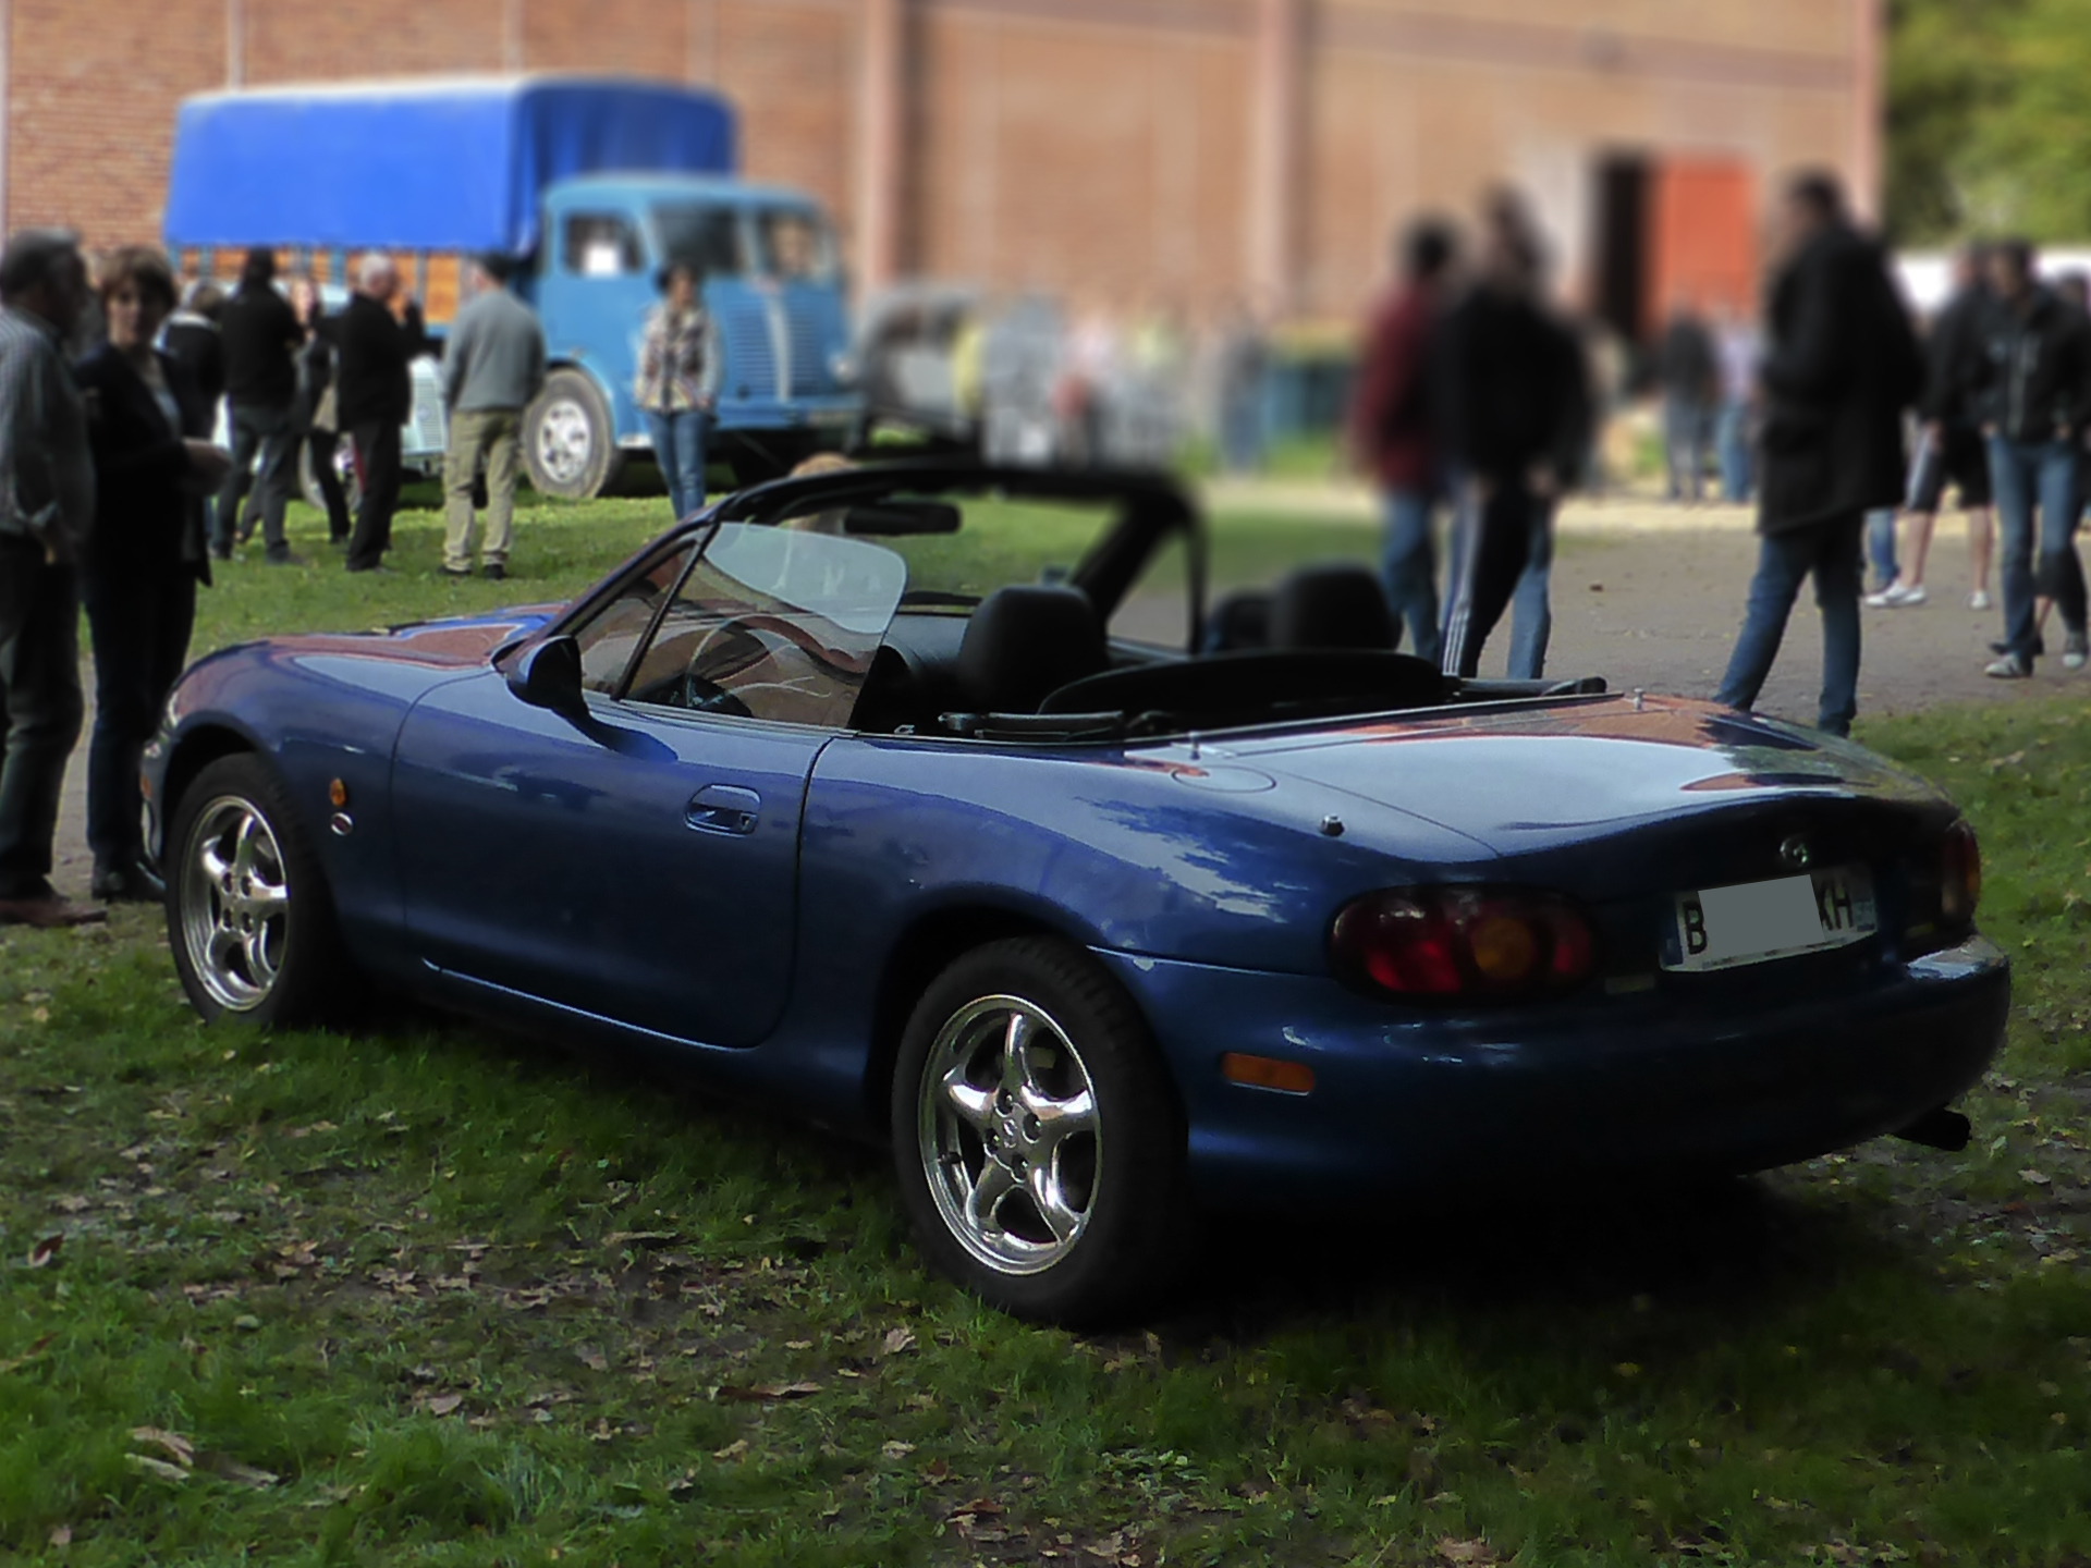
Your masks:
{"label": "woman in dark clothes standing just behind the convertible's front end", "polygon": [[203,498],[230,456],[211,445],[211,406],[153,347],[174,309],[174,274],[144,247],[109,255],[96,289],[109,341],[79,362],[94,454],[94,531],[79,585],[94,636],[88,847],[94,897],[157,899],[144,866],[138,757],[188,659],[197,583],[209,581]]}

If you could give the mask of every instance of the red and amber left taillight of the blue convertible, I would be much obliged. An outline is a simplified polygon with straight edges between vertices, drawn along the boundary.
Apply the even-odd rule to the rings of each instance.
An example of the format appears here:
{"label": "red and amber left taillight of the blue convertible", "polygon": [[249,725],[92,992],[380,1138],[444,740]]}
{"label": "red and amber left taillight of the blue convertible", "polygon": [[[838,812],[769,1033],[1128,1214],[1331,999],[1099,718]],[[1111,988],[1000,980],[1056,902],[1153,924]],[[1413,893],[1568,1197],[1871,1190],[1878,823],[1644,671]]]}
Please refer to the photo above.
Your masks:
{"label": "red and amber left taillight of the blue convertible", "polygon": [[1598,966],[1583,912],[1520,889],[1368,893],[1336,914],[1328,947],[1347,981],[1418,1001],[1558,993]]}

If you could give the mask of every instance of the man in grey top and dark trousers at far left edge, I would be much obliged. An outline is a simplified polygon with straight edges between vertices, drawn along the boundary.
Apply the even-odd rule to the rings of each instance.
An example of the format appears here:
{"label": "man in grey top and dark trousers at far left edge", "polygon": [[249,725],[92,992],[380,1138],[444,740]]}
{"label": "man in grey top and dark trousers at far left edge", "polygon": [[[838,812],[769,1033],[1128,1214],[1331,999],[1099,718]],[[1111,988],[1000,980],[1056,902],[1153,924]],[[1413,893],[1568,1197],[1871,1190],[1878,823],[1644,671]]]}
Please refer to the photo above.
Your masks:
{"label": "man in grey top and dark trousers at far left edge", "polygon": [[79,740],[79,556],[94,529],[88,414],[61,343],[88,303],[67,230],[0,251],[0,924],[79,926],[102,912],[50,886],[65,759]]}

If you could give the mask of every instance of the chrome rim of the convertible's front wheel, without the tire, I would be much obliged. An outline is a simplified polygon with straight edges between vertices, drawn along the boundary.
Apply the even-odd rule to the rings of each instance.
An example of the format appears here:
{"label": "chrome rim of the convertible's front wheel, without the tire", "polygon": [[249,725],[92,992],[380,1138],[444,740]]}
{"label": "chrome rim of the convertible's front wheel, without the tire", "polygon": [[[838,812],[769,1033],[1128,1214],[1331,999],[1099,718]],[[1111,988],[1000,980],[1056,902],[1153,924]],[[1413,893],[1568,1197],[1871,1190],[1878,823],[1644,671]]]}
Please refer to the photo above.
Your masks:
{"label": "chrome rim of the convertible's front wheel, without the tire", "polygon": [[276,985],[291,884],[276,834],[251,801],[222,794],[197,813],[182,857],[182,943],[226,1012],[253,1012]]}

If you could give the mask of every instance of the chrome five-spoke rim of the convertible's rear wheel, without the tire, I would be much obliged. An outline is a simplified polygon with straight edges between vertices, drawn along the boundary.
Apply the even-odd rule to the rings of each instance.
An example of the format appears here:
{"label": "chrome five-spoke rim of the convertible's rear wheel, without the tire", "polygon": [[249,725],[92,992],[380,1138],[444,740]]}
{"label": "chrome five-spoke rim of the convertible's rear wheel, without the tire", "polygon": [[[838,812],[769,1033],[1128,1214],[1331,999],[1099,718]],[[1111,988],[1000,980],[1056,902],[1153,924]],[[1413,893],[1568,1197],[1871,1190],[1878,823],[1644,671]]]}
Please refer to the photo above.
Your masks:
{"label": "chrome five-spoke rim of the convertible's rear wheel, without the tire", "polygon": [[1102,1123],[1081,1054],[1022,997],[968,1001],[937,1031],[916,1114],[945,1227],[999,1273],[1041,1273],[1096,1210]]}

